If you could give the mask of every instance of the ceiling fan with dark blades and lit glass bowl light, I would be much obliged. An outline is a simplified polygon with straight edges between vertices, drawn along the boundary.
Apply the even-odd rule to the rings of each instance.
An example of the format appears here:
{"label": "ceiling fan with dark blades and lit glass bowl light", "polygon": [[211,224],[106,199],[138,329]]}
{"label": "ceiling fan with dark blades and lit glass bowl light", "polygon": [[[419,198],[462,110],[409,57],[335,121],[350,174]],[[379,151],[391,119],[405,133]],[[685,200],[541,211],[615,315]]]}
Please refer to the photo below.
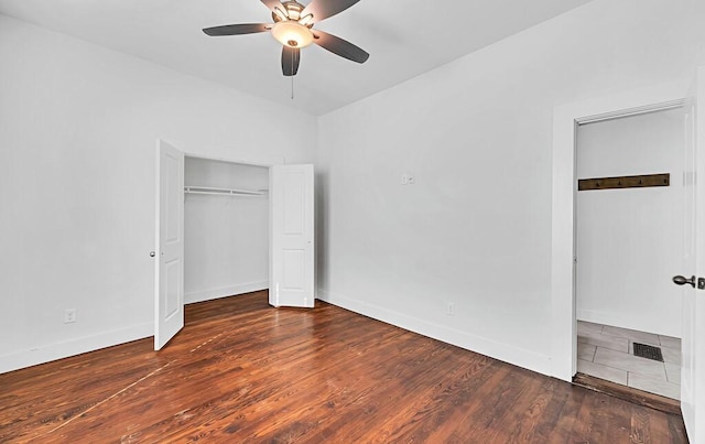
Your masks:
{"label": "ceiling fan with dark blades and lit glass bowl light", "polygon": [[274,23],[241,23],[203,30],[210,36],[254,34],[270,31],[282,45],[282,73],[295,76],[301,61],[301,48],[312,43],[352,62],[365,63],[369,54],[352,43],[323,31],[313,30],[313,25],[324,19],[343,12],[359,0],[312,0],[303,6],[294,0],[261,0],[272,11]]}

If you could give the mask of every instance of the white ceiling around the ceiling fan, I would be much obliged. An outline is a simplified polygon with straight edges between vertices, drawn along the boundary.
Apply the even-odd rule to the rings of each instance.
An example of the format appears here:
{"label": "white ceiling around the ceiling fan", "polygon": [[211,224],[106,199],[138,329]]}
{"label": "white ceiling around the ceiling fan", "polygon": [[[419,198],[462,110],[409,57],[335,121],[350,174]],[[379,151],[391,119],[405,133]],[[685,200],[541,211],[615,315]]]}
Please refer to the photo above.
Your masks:
{"label": "white ceiling around the ceiling fan", "polygon": [[588,1],[361,0],[315,29],[362,47],[369,61],[360,65],[316,45],[302,50],[293,100],[281,45],[269,33],[202,32],[271,22],[259,0],[0,0],[0,13],[323,115]]}

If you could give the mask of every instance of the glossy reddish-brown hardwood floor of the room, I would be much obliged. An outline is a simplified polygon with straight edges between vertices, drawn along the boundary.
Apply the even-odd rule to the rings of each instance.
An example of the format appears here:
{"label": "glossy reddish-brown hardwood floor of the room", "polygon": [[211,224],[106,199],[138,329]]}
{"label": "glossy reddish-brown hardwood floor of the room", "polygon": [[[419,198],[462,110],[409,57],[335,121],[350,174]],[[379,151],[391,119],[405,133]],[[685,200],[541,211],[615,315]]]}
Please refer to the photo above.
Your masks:
{"label": "glossy reddish-brown hardwood floor of the room", "polygon": [[680,416],[326,303],[186,307],[142,339],[0,375],[0,442],[684,443]]}

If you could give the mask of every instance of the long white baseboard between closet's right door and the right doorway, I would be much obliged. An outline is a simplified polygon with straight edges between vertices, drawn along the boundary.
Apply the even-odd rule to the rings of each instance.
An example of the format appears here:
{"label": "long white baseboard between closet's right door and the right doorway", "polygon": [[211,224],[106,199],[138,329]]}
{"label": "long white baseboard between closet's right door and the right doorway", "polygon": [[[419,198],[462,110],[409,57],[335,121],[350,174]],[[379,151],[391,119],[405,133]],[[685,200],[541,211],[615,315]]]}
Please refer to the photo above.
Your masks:
{"label": "long white baseboard between closet's right door and the right doorway", "polygon": [[359,313],[467,350],[479,353],[481,355],[489,356],[490,358],[550,376],[551,358],[546,355],[528,351],[523,348],[518,348],[509,344],[498,343],[490,338],[471,335],[373,304],[356,301],[338,294],[332,294],[327,291],[318,290],[317,296],[317,299],[322,301],[351,312]]}

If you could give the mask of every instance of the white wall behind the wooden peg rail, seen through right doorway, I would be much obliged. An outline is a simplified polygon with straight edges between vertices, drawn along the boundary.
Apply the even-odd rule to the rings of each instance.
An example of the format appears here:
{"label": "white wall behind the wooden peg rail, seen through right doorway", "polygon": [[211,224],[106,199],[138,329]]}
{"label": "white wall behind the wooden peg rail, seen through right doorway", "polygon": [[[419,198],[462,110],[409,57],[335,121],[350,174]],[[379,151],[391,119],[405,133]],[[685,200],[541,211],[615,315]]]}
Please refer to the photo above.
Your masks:
{"label": "white wall behind the wooden peg rail, seen through right doorway", "polygon": [[681,336],[682,108],[584,124],[577,177],[671,173],[668,187],[583,191],[576,198],[577,318]]}

